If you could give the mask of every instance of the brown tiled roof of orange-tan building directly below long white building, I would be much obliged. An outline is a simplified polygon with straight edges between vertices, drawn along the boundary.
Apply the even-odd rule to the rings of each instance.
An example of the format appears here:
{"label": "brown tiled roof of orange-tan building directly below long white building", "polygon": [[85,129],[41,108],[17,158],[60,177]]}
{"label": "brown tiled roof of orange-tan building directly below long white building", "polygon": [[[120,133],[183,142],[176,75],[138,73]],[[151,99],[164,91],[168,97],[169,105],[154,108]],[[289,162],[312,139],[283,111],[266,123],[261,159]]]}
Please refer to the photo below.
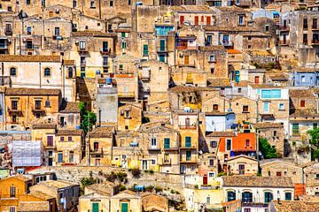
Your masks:
{"label": "brown tiled roof of orange-tan building directly below long white building", "polygon": [[59,89],[27,88],[27,87],[7,87],[5,95],[60,95]]}

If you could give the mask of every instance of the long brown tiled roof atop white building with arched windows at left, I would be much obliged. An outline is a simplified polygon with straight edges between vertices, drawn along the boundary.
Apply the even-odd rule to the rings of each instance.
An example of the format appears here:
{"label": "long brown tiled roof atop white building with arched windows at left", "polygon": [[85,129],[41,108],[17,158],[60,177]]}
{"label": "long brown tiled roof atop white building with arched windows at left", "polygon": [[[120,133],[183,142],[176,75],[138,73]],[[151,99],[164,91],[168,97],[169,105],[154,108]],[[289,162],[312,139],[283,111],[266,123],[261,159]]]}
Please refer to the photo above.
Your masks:
{"label": "long brown tiled roof atop white building with arched windows at left", "polygon": [[29,55],[0,55],[0,61],[4,62],[60,62],[59,56],[29,56]]}

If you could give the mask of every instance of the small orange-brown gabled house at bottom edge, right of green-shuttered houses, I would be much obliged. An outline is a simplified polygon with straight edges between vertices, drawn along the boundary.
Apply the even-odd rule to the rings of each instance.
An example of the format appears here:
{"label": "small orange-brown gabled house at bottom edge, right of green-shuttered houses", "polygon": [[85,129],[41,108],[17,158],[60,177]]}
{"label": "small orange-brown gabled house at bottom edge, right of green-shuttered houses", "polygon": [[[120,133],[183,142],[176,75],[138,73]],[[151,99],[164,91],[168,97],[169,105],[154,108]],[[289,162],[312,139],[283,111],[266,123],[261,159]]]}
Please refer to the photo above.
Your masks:
{"label": "small orange-brown gabled house at bottom edge, right of green-shuttered houses", "polygon": [[142,197],[144,211],[162,211],[166,212],[168,208],[167,198],[153,193]]}

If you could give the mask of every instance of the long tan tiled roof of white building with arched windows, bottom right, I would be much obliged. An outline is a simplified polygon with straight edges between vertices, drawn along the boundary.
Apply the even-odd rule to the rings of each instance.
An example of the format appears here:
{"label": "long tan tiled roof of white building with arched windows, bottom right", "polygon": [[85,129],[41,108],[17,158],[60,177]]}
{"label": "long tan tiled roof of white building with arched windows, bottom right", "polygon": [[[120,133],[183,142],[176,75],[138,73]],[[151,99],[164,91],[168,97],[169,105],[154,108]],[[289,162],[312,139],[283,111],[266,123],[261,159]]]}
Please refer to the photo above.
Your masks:
{"label": "long tan tiled roof of white building with arched windows, bottom right", "polygon": [[223,186],[236,187],[290,187],[293,188],[292,178],[287,177],[257,177],[257,176],[225,176]]}

